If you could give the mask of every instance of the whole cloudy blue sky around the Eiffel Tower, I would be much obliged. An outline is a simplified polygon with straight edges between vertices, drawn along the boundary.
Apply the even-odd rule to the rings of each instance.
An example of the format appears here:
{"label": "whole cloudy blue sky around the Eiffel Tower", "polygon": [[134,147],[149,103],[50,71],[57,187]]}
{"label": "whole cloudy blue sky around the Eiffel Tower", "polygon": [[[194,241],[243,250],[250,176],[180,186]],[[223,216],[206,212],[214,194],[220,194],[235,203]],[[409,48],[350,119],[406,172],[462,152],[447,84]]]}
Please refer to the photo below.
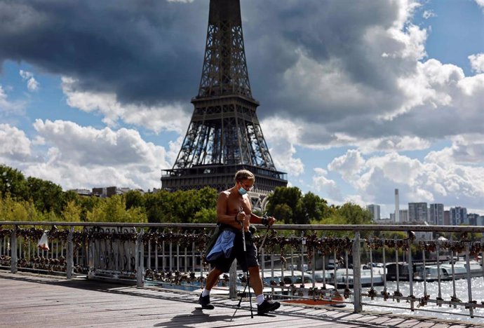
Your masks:
{"label": "whole cloudy blue sky around the Eiffel Tower", "polygon": [[[208,0],[0,0],[0,163],[159,188],[198,93]],[[276,168],[331,204],[484,214],[484,0],[241,0]]]}

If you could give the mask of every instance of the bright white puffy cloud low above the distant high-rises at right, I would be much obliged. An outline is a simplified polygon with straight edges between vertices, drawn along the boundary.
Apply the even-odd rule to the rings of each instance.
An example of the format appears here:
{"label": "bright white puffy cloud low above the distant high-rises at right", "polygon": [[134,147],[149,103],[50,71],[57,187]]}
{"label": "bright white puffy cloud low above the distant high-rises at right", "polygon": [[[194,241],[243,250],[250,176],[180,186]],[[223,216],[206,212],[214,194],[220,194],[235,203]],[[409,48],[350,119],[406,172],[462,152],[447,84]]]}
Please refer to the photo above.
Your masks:
{"label": "bright white puffy cloud low above the distant high-rises at right", "polygon": [[[464,142],[469,142],[469,139],[456,139],[450,149],[431,152],[422,161],[398,153],[372,156],[365,159],[358,174],[351,177],[345,168],[351,167],[354,153],[348,152],[340,158],[339,165],[328,165],[328,168],[340,173],[368,203],[379,200],[382,205],[393,204],[393,191],[399,189],[401,205],[423,201],[443,203],[445,206],[482,208],[484,168],[455,163],[455,158],[462,157],[456,155],[456,149]],[[477,142],[480,149],[481,144]]]}

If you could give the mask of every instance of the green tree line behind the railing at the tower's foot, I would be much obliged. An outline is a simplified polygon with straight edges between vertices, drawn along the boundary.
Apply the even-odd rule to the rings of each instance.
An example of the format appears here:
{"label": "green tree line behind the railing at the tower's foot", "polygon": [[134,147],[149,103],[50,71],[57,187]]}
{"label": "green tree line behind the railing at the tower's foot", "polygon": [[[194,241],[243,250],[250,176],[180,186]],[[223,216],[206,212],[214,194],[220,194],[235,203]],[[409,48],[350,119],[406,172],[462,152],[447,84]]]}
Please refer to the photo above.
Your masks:
{"label": "green tree line behind the railing at the tower's foot", "polygon": [[[0,220],[214,223],[217,191],[137,190],[110,198],[79,196],[43,179],[27,177],[0,165]],[[285,224],[368,224],[371,215],[360,206],[328,202],[297,187],[278,187],[268,196],[267,214]]]}

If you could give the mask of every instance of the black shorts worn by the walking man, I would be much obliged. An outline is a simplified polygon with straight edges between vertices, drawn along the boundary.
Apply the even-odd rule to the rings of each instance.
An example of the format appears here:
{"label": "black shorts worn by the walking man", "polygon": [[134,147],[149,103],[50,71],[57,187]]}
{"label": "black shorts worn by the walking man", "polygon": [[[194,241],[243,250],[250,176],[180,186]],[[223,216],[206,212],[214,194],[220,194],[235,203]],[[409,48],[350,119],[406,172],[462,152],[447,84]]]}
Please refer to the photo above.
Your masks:
{"label": "black shorts worn by the walking man", "polygon": [[234,259],[237,259],[237,264],[241,266],[242,271],[247,271],[247,268],[252,268],[253,266],[259,266],[259,261],[257,261],[257,247],[254,245],[252,233],[250,233],[250,231],[246,232],[246,254],[243,252],[242,232],[237,231],[234,240],[234,249],[232,250],[230,257],[228,259],[223,256],[219,257],[213,261],[213,264],[215,264],[215,268],[220,271],[229,272]]}

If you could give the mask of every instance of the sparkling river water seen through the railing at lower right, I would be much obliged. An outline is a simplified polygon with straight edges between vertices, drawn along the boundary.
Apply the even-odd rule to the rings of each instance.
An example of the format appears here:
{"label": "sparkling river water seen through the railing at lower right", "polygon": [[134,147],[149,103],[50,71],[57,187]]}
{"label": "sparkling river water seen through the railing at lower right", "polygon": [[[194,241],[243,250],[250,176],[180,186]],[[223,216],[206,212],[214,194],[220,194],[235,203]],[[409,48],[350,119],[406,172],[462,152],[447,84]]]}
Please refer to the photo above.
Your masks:
{"label": "sparkling river water seen through the railing at lower right", "polygon": [[[403,294],[403,296],[407,296],[410,294],[410,284],[408,282],[400,282],[399,287],[400,292]],[[377,286],[374,288],[378,292],[381,292],[383,286]],[[438,296],[438,282],[427,282],[426,288],[427,294],[430,295],[430,299],[436,299]],[[370,289],[370,287],[363,287],[363,292],[368,291],[368,289]],[[389,292],[390,295],[393,294],[395,290],[396,282],[386,282],[386,291]],[[471,290],[473,301],[477,301],[478,304],[481,301],[484,301],[484,279],[482,277],[471,278]],[[467,291],[468,288],[466,279],[455,280],[455,294],[458,299],[460,299],[461,301],[469,301],[469,295]],[[424,282],[413,283],[413,294],[417,298],[424,295]],[[454,294],[452,281],[441,282],[441,294],[444,301],[450,301],[450,297]],[[404,315],[422,315],[427,317],[432,316],[447,320],[462,320],[480,323],[484,322],[483,308],[474,309],[474,317],[471,318],[469,317],[469,310],[464,308],[464,306],[458,306],[457,308],[454,308],[453,306],[450,307],[448,305],[443,305],[439,307],[435,303],[428,303],[424,307],[417,308],[418,302],[415,302],[415,312],[412,312],[408,309],[410,308],[410,303],[406,303],[406,301],[400,301],[400,303],[397,303],[391,298],[386,301],[384,301],[383,299],[375,298],[373,301],[371,301],[366,296],[363,298],[362,301],[364,303],[375,304],[375,306],[364,305],[363,310],[372,310],[375,312],[392,312]],[[401,308],[384,308],[382,306],[398,306]],[[404,306],[406,306],[407,308],[403,308]],[[427,310],[432,310],[432,312],[426,312]]]}

